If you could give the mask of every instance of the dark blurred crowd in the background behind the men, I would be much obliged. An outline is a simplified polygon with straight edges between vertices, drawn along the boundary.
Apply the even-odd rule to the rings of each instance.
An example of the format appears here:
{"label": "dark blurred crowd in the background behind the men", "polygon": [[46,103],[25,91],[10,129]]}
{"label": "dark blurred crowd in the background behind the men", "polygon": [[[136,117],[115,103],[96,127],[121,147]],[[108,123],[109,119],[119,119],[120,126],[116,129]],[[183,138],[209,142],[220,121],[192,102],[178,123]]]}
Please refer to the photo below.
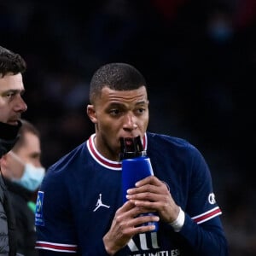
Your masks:
{"label": "dark blurred crowd in the background behind the men", "polygon": [[148,81],[149,131],[204,154],[230,255],[256,255],[255,0],[0,1],[0,45],[20,53],[49,166],[83,143],[90,78],[127,62]]}

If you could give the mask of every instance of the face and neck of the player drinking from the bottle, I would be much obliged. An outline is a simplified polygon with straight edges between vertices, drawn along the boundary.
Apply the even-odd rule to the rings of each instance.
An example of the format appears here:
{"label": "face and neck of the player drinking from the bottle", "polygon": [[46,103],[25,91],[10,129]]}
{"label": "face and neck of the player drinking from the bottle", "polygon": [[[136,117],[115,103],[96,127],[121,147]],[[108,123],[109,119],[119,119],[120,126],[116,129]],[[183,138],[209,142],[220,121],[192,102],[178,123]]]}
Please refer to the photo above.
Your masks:
{"label": "face and neck of the player drinking from the bottle", "polygon": [[137,90],[102,89],[94,105],[87,107],[96,124],[96,148],[109,160],[119,160],[120,137],[143,137],[148,127],[148,95]]}

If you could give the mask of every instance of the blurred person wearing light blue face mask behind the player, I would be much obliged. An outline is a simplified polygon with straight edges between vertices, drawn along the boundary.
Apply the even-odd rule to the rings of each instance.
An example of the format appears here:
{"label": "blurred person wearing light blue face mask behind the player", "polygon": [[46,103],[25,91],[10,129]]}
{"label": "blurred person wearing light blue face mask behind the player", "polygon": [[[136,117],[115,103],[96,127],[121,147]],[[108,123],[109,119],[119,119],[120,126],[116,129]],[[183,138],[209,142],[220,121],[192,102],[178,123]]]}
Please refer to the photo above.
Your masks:
{"label": "blurred person wearing light blue face mask behind the player", "polygon": [[38,255],[34,248],[36,233],[32,197],[37,192],[45,169],[41,164],[41,144],[38,129],[21,119],[20,138],[15,147],[0,160],[4,181],[15,209],[17,253]]}

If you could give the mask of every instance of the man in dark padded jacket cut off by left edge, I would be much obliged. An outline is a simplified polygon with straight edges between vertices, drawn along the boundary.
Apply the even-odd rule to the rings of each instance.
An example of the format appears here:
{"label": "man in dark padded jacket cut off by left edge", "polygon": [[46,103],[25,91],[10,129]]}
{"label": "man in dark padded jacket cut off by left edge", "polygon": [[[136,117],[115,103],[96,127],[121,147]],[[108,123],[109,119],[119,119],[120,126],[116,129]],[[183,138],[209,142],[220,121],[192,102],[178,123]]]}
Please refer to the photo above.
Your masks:
{"label": "man in dark padded jacket cut off by left edge", "polygon": [[[22,99],[25,90],[22,73],[25,71],[26,62],[20,55],[0,46],[0,158],[18,140],[20,115],[27,108]],[[15,217],[0,172],[0,255],[15,254]]]}

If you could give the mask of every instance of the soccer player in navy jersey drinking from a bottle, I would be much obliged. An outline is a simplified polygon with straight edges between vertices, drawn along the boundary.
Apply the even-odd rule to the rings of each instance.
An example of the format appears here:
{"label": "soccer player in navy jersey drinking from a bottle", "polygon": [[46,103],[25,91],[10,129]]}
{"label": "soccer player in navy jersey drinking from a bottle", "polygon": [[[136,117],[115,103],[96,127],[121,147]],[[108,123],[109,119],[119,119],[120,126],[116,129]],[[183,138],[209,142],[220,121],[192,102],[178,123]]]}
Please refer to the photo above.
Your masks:
{"label": "soccer player in navy jersey drinking from a bottle", "polygon": [[[125,63],[100,67],[87,114],[95,134],[50,166],[38,191],[40,255],[228,255],[207,163],[187,141],[147,131],[143,75]],[[138,136],[154,176],[123,203],[120,139]]]}

